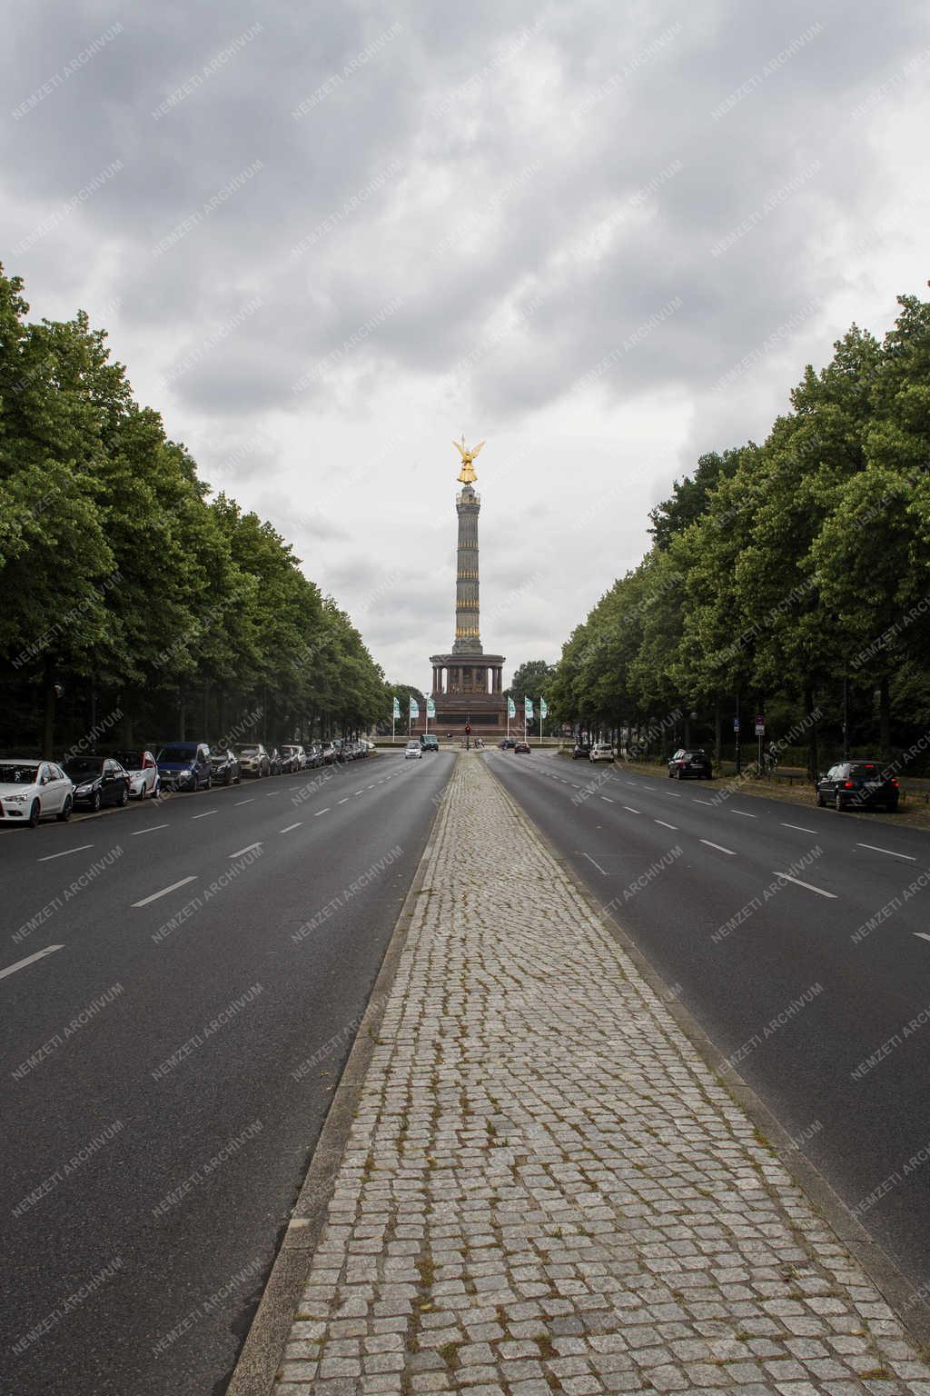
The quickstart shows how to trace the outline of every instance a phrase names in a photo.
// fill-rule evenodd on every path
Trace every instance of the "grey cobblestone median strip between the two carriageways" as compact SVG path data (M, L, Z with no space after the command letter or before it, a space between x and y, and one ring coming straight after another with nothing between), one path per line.
M275 1396L930 1396L880 1291L460 757Z

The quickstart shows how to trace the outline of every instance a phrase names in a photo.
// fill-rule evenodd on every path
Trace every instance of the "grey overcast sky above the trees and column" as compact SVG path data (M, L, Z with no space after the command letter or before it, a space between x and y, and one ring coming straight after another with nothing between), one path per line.
M929 274L924 0L10 7L0 257L389 678L555 659L697 455Z

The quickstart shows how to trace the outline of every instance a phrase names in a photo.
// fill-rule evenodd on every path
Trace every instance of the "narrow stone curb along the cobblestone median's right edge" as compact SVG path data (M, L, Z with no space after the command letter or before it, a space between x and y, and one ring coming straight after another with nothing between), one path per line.
M559 871L566 877L577 895L581 898L591 914L605 927L612 938L629 955L639 974L643 976L653 993L662 1001L669 1016L675 1019L678 1027L694 1050L703 1057L704 1064L714 1072L717 1082L726 1090L736 1104L749 1115L763 1135L764 1143L786 1168L800 1191L805 1194L813 1209L834 1231L837 1240L845 1245L857 1265L864 1270L876 1289L883 1294L888 1307L909 1333L912 1342L923 1354L930 1350L930 1304L922 1298L915 1286L892 1261L887 1251L869 1234L862 1222L856 1220L851 1209L838 1192L823 1175L820 1168L795 1146L789 1132L778 1117L768 1108L761 1097L749 1086L738 1072L726 1068L724 1054L714 1046L694 1015L675 998L661 974L643 955L637 945L623 930L620 923L609 913L605 913L595 896L588 892L569 863L555 850L545 833L537 828L524 810L516 803L510 792L494 771L491 762L485 766L494 776L505 800L513 810L514 818L533 833ZM791 1223L792 1230L796 1230Z

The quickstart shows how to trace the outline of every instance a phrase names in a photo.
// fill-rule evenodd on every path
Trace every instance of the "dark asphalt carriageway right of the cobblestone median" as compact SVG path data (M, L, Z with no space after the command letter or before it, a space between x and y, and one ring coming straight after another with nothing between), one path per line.
M485 757L915 1286L930 1280L930 839L533 752Z

